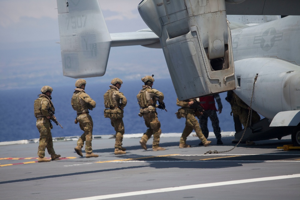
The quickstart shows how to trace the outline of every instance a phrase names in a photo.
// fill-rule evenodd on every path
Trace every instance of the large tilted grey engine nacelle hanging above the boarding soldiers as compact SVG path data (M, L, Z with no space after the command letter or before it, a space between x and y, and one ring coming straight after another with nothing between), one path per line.
M235 89L224 0L144 0L138 9L160 38L179 100Z

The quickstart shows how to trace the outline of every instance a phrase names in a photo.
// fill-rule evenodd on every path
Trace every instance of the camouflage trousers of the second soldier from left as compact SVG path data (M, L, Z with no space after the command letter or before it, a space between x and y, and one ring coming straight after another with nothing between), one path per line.
M77 116L79 127L84 133L77 141L77 145L81 148L85 142L85 153L92 153L92 139L93 139L93 120L89 114L81 114Z

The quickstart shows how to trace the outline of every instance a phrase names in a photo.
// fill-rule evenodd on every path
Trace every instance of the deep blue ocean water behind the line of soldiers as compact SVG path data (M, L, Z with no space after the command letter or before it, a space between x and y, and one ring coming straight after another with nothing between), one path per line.
M51 84L49 85L51 86ZM109 89L109 85L110 83L94 85L87 83L85 88L86 93L96 101L96 108L90 111L94 122L93 135L115 134L110 119L104 118L103 94ZM124 81L120 89L128 100L123 118L125 134L144 133L147 129L143 118L138 116L140 108L137 104L136 95L142 89L142 85L141 80ZM38 94L41 94L41 87L0 91L0 142L39 138L33 105L35 99L38 98ZM76 111L73 110L70 104L74 88L74 85L53 87L52 102L55 107L55 117L63 129L52 122L52 137L80 136L83 133L79 128L79 124L74 124ZM164 93L164 102L168 110L166 112L157 109L162 133L182 133L185 120L176 118L175 112L179 107L176 106L177 96L171 79L156 79L153 88ZM230 105L225 100L226 92L221 93L220 97L223 104L222 113L218 115L221 131L234 131L233 119L230 116ZM209 120L208 130L213 131Z

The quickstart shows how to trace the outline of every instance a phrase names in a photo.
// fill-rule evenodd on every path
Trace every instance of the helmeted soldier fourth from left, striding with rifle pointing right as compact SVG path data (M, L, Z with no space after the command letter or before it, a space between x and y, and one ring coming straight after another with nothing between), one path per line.
M161 123L158 121L156 107L164 109L164 94L154 88L153 82L154 78L152 76L145 76L142 78L145 83L143 89L137 95L137 100L140 105L139 116L144 118L146 127L148 127L146 133L142 136L140 140L141 147L147 150L147 141L153 135L152 150L153 151L163 151L165 148L159 146L159 140L161 135ZM159 102L159 106L156 102Z

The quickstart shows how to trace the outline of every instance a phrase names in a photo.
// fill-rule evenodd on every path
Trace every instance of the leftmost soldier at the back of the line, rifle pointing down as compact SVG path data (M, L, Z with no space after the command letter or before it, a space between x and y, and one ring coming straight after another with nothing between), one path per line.
M42 94L39 95L38 99L35 100L34 109L35 117L37 118L36 126L40 132L40 142L38 146L38 162L49 162L50 159L45 158L45 149L47 148L48 154L51 155L51 160L55 160L60 155L55 154L53 149L51 129L52 124L50 123L50 115L48 109L55 111L53 103L51 101L53 89L46 85L42 87Z

